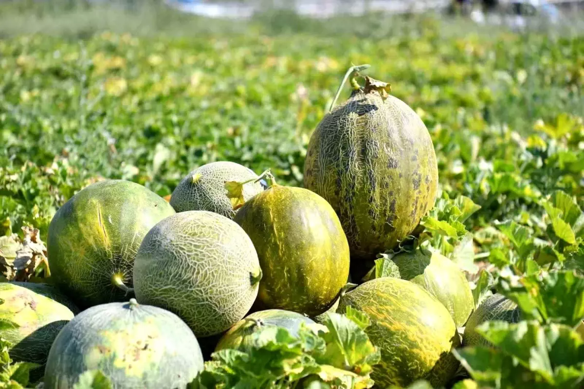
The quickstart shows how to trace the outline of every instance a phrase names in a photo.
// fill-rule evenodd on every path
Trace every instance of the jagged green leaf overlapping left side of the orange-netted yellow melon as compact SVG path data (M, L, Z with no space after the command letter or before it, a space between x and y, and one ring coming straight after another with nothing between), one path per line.
M345 370L358 367L361 373L366 374L371 371L371 366L379 362L379 349L351 319L329 312L323 324L328 328L328 332L321 334L326 342L326 350L317 357L318 363Z

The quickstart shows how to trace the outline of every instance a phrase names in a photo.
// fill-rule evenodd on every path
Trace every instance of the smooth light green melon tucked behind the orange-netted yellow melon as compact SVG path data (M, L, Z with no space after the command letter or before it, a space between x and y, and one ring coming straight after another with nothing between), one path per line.
M426 289L450 312L457 327L467 322L474 310L471 286L456 263L440 253L416 250L391 258L399 268L401 279Z

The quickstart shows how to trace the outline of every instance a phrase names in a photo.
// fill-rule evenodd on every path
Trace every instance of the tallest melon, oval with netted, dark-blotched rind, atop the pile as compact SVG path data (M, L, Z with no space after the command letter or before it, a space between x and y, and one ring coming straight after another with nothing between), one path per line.
M433 207L437 184L432 138L394 96L353 93L308 144L304 187L335 209L352 259L375 259L411 234Z

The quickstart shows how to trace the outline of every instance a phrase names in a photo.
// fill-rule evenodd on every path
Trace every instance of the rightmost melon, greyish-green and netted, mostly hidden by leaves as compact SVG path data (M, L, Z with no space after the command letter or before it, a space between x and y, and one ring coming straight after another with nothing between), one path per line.
M521 311L517 304L506 298L502 294L496 293L485 298L479 304L477 310L472 312L468 318L467 325L464 328L463 345L464 346L488 346L489 341L483 338L475 328L479 324L490 320L502 320L510 323L516 323L521 319Z

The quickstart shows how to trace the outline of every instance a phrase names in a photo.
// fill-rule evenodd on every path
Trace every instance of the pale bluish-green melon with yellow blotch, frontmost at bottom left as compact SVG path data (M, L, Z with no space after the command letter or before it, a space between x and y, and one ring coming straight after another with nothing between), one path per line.
M186 388L203 357L179 317L132 298L91 307L65 325L48 355L44 389L71 388L88 370L101 370L118 389Z

